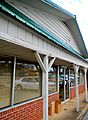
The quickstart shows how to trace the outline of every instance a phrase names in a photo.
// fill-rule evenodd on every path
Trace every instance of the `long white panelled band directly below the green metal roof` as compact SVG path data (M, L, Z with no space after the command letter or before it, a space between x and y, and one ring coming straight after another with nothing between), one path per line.
M27 30L27 28L23 25L16 24L10 21L9 18L7 19L7 17L4 18L2 15L0 15L0 27L1 25L3 25L3 21L5 21L4 27L8 26L8 30L6 31L5 28L3 30L0 29L0 39L3 39L4 41L9 41L11 43L23 46L34 51L38 51L42 54L55 56L56 58L88 67L88 64L83 60L80 60L79 58L75 57L59 46L57 47L55 44L49 42L38 34ZM12 26L14 27L14 29L12 29ZM15 31L17 33L15 33L14 36ZM8 49L9 51L13 51L12 47L9 47ZM5 51L5 49L3 49L3 51Z

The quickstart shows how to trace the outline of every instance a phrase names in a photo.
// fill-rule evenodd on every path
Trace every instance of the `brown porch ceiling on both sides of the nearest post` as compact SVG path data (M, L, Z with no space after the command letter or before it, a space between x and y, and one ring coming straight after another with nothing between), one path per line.
M0 40L0 57L2 57L3 55L5 56L7 55L11 57L16 56L17 58L37 63L34 52L35 51L31 49L28 49L10 42L6 42L4 40ZM43 55L41 55L41 57L43 57ZM71 63L58 58L56 58L54 65L61 65L61 66L67 66L67 67L72 66Z

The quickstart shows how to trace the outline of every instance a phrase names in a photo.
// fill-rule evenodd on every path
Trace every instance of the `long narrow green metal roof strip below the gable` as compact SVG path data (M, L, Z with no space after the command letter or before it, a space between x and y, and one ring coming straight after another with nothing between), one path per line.
M36 22L34 22L33 20L31 20L30 18L28 18L27 16L25 16L24 14L22 14L20 11L18 11L17 9L15 9L14 7L12 7L11 5L9 5L8 3L2 1L0 3L0 8L2 8L2 10L6 11L7 13L9 13L10 15L14 16L16 19L18 19L20 22L26 24L27 26L31 27L32 29L36 30L37 32L39 32L40 34L46 36L49 40L51 40L52 42L56 43L57 45L63 47L64 49L66 49L67 51L73 53L74 55L76 55L77 57L81 58L82 60L85 60L79 53L77 53L70 45L68 45L67 43L65 43L63 40L58 39L55 35L53 35L52 33L50 33L48 30L46 30L45 28L43 28L42 26L40 26L39 24L37 24Z

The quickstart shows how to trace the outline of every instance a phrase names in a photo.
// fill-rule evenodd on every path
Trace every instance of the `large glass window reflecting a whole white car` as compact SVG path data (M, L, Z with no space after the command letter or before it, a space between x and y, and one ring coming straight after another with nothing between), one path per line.
M14 103L41 96L39 65L17 62Z

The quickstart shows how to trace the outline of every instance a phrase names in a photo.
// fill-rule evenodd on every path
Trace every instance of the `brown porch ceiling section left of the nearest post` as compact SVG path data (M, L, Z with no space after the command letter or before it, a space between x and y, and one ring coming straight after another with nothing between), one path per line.
M24 60L37 62L32 50L3 40L0 40L0 54L0 56L16 56Z

